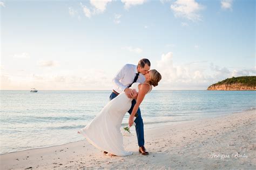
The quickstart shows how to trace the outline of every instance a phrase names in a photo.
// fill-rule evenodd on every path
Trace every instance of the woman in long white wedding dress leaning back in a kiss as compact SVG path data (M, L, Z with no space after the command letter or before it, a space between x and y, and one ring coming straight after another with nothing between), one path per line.
M138 97L129 118L129 126L133 125L134 115L145 95L152 90L152 86L158 85L161 74L157 70L150 70L145 74L145 78L144 83L136 82L130 87L130 89L135 89L138 92ZM125 113L131 108L132 100L126 96L125 92L120 93L116 98L109 101L88 125L77 133L83 134L87 141L98 149L108 152L107 155L131 155L132 152L127 152L124 149L120 127Z

